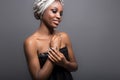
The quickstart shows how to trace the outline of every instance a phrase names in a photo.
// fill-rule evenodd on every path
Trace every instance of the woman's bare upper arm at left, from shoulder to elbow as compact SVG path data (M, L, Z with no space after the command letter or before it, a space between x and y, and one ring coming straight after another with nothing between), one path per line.
M37 57L37 48L34 40L26 39L24 42L24 51L27 59L29 71L33 77L37 76L40 70L39 59Z

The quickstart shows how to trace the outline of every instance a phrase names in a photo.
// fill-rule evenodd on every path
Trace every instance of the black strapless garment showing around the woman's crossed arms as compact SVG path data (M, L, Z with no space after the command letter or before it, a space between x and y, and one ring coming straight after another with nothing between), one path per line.
M67 47L61 48L60 52L64 54L67 60L69 60ZM38 57L40 65L41 67L43 67L44 63L48 58L48 53L38 54ZM65 68L55 65L52 74L50 75L48 80L73 80L73 78L71 73L67 71Z

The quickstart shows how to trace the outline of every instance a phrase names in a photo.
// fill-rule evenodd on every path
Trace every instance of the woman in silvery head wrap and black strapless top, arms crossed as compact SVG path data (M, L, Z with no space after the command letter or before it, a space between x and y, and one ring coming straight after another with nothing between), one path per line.
M41 23L24 42L33 80L73 80L70 72L78 66L70 39L65 32L55 30L62 19L62 0L36 0L33 9Z

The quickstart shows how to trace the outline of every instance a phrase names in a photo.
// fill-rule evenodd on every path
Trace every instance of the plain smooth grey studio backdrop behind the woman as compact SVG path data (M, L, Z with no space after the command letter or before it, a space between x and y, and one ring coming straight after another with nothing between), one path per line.
M0 80L31 80L24 39L39 26L33 0L0 1ZM59 30L69 34L75 80L120 80L120 0L64 0Z

